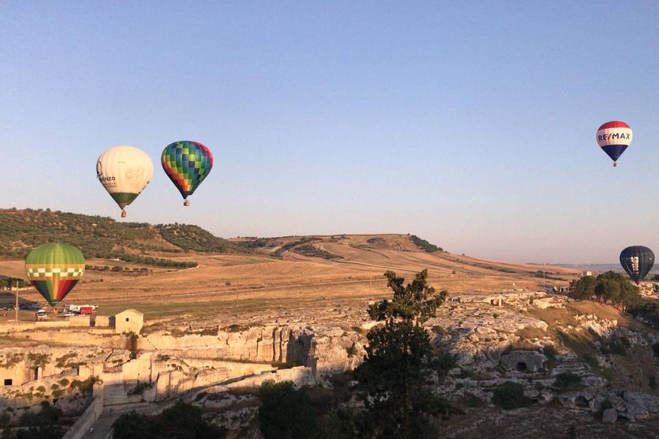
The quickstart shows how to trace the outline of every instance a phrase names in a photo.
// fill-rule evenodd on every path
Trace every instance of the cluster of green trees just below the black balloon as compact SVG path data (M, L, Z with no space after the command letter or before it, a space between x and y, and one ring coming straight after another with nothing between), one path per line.
M623 309L641 302L638 287L630 283L626 276L615 272L605 272L597 277L583 276L570 282L568 296L575 300L596 298L599 302Z

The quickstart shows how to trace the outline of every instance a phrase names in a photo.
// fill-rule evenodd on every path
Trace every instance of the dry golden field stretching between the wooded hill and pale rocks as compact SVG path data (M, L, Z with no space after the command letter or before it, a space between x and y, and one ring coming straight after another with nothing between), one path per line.
M153 254L177 260L197 261L198 268L171 270L151 268L151 274L87 270L82 282L65 302L100 305L100 314L134 307L147 318L177 313L209 313L266 307L318 306L323 302L366 302L389 295L382 274L394 270L410 278L428 269L430 285L446 288L452 295L489 294L511 289L537 291L543 285L566 285L575 270L543 265L485 261L448 252L428 253L408 235L335 235L314 237L311 245L336 255L336 259L309 257L281 246L302 237L273 239L253 254L199 254L183 257ZM239 239L235 239L239 240ZM91 260L89 265L139 265ZM536 272L551 272L551 280ZM23 276L23 261L0 261L0 273ZM12 296L5 292L4 302ZM21 298L44 303L33 289L23 289Z

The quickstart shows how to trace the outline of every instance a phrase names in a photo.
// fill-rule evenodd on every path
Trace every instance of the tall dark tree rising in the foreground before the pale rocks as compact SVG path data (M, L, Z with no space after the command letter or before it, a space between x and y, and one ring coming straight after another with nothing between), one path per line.
M369 307L384 327L371 331L364 361L355 370L358 396L365 410L356 419L358 438L435 438L430 420L450 414L448 403L428 390L428 377L442 379L454 365L450 355L435 355L421 326L435 316L448 292L435 294L428 271L404 285L394 272L384 274L393 300Z

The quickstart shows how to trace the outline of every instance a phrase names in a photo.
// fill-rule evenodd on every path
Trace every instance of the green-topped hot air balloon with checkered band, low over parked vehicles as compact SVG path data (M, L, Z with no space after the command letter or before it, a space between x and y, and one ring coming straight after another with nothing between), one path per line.
M51 307L69 294L83 273L80 250L61 242L38 246L25 259L27 279Z

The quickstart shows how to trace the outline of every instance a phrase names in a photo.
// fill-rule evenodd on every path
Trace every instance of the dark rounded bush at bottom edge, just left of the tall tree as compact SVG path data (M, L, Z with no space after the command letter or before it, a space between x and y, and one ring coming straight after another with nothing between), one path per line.
M316 410L305 388L292 381L265 381L259 389L259 424L266 439L314 438L318 432Z

